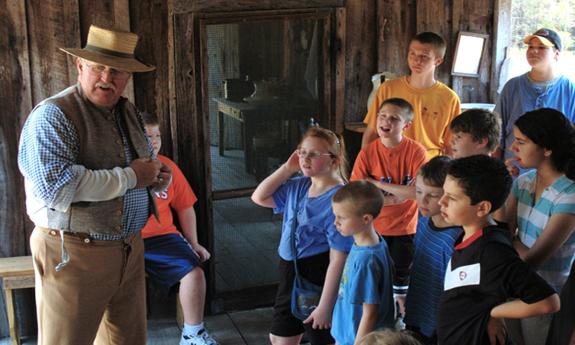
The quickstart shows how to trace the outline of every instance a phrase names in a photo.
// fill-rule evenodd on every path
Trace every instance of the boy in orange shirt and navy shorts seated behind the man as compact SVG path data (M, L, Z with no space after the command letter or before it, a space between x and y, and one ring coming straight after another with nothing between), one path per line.
M167 290L180 283L184 327L179 344L217 345L203 323L206 279L201 264L210 258L210 252L198 243L194 211L197 198L176 163L158 154L162 146L158 118L149 113L143 113L142 117L154 154L172 169L170 185L156 193L159 222L150 216L142 229L146 273ZM178 217L181 232L174 225L172 210Z

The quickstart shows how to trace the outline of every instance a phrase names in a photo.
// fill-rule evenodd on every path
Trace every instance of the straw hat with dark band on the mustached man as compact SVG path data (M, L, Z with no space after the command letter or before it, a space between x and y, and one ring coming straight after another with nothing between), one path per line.
M127 31L112 31L90 26L88 41L83 49L60 48L60 50L126 72L148 72L156 69L134 57L138 35Z

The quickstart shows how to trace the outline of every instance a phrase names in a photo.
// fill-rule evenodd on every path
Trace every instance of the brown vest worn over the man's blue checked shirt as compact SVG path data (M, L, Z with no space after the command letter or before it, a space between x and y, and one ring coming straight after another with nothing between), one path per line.
M76 164L87 169L126 167L121 134L116 114L132 146L135 158L149 157L150 150L136 107L126 98L120 98L114 111L100 108L82 94L80 85L71 86L42 103L56 105L74 124L78 133L78 160ZM153 203L151 193L149 202ZM152 205L154 207L155 205ZM48 223L53 229L73 232L121 234L123 197L108 201L73 203L67 212L48 211Z

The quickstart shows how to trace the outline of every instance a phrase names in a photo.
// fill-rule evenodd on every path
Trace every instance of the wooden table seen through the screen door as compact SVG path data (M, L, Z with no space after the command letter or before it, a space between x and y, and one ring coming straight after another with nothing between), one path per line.
M253 173L253 138L256 135L258 124L268 121L288 121L290 128L297 128L298 121L309 121L311 117L317 118L317 101L274 99L271 101L235 102L225 98L213 98L218 110L218 153L224 155L225 126L224 116L239 121L242 124L242 141L246 172ZM286 145L295 149L293 140L287 139Z

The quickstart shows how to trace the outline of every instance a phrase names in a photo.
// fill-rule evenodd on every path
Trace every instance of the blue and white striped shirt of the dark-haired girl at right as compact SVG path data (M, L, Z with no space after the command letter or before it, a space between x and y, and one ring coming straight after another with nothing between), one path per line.
M519 176L511 192L517 199L519 239L528 248L541 236L549 219L556 214L575 214L575 182L565 175L547 187L535 202L536 170ZM575 232L539 268L541 275L556 291L561 291L575 258Z

